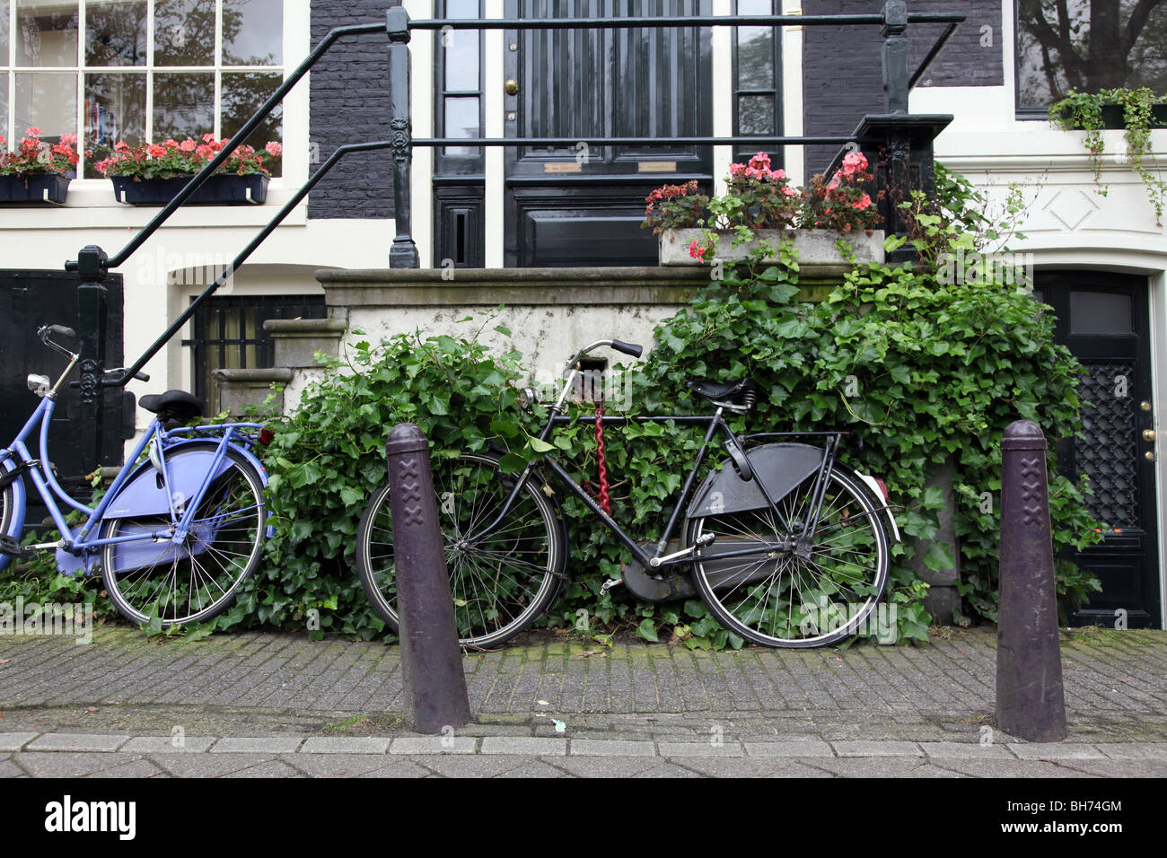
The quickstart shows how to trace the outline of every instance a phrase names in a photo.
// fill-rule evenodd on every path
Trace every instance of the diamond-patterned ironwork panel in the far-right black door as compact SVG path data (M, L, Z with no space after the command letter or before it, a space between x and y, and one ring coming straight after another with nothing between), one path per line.
M1084 361L1083 439L1075 447L1078 474L1090 477L1086 509L1110 528L1138 528L1138 439L1133 362Z

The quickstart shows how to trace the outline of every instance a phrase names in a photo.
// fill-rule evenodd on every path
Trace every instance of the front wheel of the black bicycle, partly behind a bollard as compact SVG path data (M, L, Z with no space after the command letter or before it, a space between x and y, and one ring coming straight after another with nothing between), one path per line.
M467 542L495 523L518 476L503 473L498 458L484 453L463 453L433 465L454 620L463 647L488 648L510 640L559 594L567 538L543 480L533 473L506 516L474 544ZM361 518L357 567L373 609L397 632L389 486L377 490Z

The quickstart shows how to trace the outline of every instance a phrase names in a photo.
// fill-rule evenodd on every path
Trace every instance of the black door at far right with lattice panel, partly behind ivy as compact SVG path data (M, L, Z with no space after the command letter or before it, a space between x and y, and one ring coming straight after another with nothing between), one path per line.
M1160 605L1148 287L1110 272L1044 272L1037 298L1057 315L1057 339L1082 363L1083 438L1058 445L1060 467L1085 474L1090 512L1104 539L1072 559L1102 592L1071 615L1074 625L1158 628ZM1092 406L1092 407L1091 407Z

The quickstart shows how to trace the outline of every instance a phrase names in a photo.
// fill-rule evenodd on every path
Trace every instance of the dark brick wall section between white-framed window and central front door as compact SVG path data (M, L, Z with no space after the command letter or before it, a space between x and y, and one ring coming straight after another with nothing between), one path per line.
M399 0L312 0L312 43L334 27L384 22ZM309 140L323 163L337 146L389 139L389 71L384 34L335 42L310 72ZM315 169L315 165L312 169ZM392 217L389 152L348 155L313 189L309 217Z

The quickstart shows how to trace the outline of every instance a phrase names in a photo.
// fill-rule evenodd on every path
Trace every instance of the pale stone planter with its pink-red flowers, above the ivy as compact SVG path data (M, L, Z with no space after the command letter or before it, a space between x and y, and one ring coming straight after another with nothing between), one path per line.
M880 215L862 190L872 177L867 159L853 152L831 181L815 176L810 188L798 189L759 152L748 163L729 166L724 196L698 194L696 181L652 191L642 226L661 236L662 265L778 261L788 245L799 264L841 271L883 260L883 233L874 229Z

